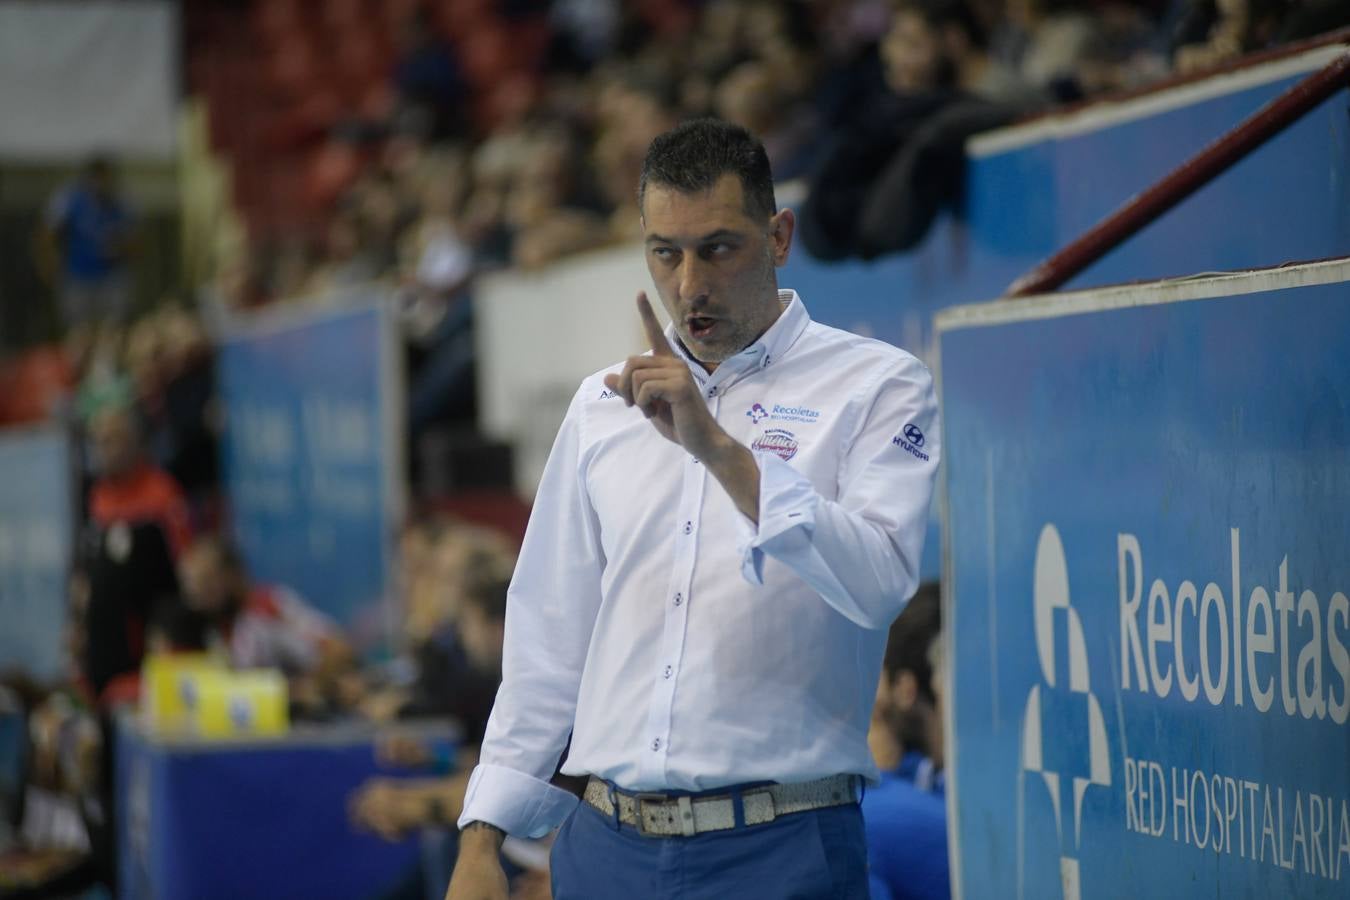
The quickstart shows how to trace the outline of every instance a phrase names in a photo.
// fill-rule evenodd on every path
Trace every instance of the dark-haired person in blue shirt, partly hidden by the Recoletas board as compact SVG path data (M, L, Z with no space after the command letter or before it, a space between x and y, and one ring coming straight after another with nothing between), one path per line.
M936 583L891 626L871 745L882 784L863 797L872 900L949 897Z

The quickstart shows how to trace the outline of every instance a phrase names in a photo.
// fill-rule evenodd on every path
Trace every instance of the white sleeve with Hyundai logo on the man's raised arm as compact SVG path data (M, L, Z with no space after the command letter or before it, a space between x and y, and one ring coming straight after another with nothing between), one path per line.
M859 425L834 499L774 453L755 453L759 522L741 521L741 573L763 584L776 560L852 622L884 629L918 587L940 459L937 397L927 368L907 356L855 401Z

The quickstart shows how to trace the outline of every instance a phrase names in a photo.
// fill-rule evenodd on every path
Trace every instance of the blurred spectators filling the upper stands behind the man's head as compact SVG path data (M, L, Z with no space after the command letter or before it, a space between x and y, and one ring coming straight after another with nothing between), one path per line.
M340 161L313 177L324 215L308 235L256 235L242 248L219 279L228 304L382 278L435 305L477 271L632 240L648 142L705 115L760 135L776 177L819 196L807 201L809 251L905 250L938 208L959 204L971 134L1350 23L1334 0L400 8L383 103L352 101L313 138L323 159ZM493 77L474 78L485 66Z

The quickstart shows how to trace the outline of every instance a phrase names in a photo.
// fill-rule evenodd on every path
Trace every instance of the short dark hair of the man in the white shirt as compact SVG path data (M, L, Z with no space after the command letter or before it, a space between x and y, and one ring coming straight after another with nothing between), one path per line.
M726 174L741 179L745 212L768 219L774 202L774 173L764 144L740 125L720 119L691 119L657 135L643 159L637 206L643 209L648 185L680 193L707 190Z

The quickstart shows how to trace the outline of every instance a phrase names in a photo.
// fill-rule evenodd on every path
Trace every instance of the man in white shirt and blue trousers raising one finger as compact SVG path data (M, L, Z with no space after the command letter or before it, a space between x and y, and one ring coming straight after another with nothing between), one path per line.
M559 429L448 897L505 897L504 834L559 824L558 900L865 897L857 797L918 586L933 382L778 289L794 216L744 130L653 140L639 201L672 324L640 294L652 352L582 382ZM580 804L549 784L568 735Z

